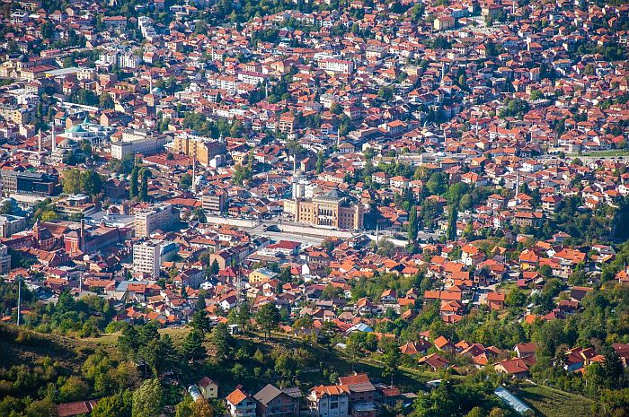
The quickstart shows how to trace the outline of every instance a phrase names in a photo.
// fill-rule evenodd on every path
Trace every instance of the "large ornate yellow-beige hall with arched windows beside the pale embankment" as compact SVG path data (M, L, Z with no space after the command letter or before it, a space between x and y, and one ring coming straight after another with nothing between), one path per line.
M285 200L284 213L291 214L296 222L313 226L362 230L365 210L349 196L332 190L311 200Z

